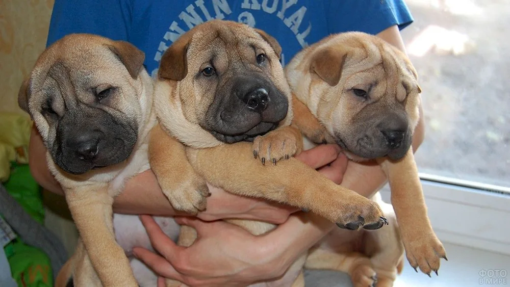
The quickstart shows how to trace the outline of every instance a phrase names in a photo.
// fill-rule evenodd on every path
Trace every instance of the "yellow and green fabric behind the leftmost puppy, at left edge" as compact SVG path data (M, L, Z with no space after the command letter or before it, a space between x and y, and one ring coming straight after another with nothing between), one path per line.
M41 187L30 173L28 145L32 121L27 116L0 113L0 181L34 220L44 224ZM19 237L4 248L12 277L19 287L52 287L53 271L45 252Z

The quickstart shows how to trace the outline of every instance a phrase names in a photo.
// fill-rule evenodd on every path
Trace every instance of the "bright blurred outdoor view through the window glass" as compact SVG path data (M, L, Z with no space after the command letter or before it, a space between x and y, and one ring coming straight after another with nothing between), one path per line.
M510 1L406 3L426 122L420 172L510 187Z

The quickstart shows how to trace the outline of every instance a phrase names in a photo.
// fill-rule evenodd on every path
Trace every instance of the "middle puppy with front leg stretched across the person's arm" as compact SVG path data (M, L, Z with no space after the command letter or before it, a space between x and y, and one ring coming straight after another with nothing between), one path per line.
M175 208L197 213L206 205L207 180L236 194L310 210L343 228L382 227L386 219L378 204L290 158L302 141L289 126L291 93L280 53L266 33L221 20L195 26L165 51L155 84L159 125L149 144L163 192ZM253 234L274 228L230 222ZM183 227L179 244L188 246L195 238L194 230ZM303 285L304 258L273 284L290 285L300 274L294 284Z

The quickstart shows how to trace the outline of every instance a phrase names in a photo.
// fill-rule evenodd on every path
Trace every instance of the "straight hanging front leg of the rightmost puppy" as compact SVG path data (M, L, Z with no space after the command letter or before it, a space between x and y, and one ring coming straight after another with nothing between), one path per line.
M380 161L380 160L379 160ZM398 162L380 161L388 176L391 202L400 228L407 260L430 276L437 272L446 251L432 230L412 149Z

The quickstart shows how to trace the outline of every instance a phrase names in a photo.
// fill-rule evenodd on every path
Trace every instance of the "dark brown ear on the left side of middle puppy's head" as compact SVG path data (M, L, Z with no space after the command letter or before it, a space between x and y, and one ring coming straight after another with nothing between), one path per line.
M188 74L186 54L191 42L191 33L181 35L161 56L158 76L163 79L181 81Z

